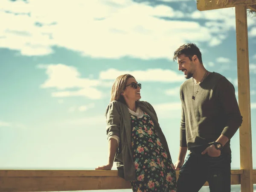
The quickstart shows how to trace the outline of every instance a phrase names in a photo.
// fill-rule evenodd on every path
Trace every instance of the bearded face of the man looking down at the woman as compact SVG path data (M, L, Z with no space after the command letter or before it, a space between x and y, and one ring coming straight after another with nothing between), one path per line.
M178 70L182 71L186 79L189 79L194 74L195 64L190 61L184 54L178 56Z

